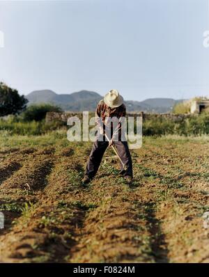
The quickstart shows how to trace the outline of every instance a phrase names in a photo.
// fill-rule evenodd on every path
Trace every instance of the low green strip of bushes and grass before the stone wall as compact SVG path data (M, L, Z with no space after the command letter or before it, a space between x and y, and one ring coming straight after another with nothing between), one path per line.
M0 130L7 131L8 134L20 135L40 135L46 134L56 129L68 129L65 122L22 121L20 116L9 116L0 119ZM136 131L136 127L135 127ZM189 118L149 118L143 122L142 132L144 136L163 136L167 134L177 134L180 136L201 136L209 134L209 114L201 113L199 116Z

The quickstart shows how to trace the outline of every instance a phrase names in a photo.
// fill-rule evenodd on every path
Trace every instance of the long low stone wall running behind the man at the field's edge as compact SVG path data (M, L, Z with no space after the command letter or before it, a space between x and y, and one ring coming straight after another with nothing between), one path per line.
M46 115L46 122L53 122L53 121L62 121L62 122L67 122L68 118L72 117L72 116L77 116L79 119L82 119L83 117L83 113L82 112L60 112L60 113L56 113L53 111L50 111L47 113ZM91 116L94 116L93 112L89 112L89 118L91 118ZM191 115L191 114L174 114L174 113L143 113L143 112L139 112L139 113L127 113L127 116L142 116L143 120L150 120L150 119L157 119L157 118L167 118L173 121L180 121L183 120L185 118L190 118L193 117L195 115Z

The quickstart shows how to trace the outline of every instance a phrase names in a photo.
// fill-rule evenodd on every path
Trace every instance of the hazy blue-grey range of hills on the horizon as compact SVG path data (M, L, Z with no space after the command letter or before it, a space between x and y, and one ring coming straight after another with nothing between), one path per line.
M94 91L81 90L71 94L56 94L52 90L35 90L26 95L29 104L51 103L61 106L64 111L94 111L102 96ZM150 98L144 101L125 101L127 111L144 111L147 113L167 113L173 106L183 100L171 98Z

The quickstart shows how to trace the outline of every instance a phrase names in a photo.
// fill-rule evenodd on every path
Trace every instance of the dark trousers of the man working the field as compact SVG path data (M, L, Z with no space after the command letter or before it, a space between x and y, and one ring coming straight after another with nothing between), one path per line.
M88 177L93 178L95 174L98 172L98 168L102 161L102 157L104 155L105 150L107 149L109 143L108 141L98 141L96 140L93 143L93 148L91 150L91 154L89 155L88 162L86 165L86 175ZM125 176L131 176L132 173L132 157L130 155L130 151L127 146L127 141L114 141L114 146L118 150L118 154L123 161L123 164L126 166ZM123 170L123 166L121 164L121 170Z

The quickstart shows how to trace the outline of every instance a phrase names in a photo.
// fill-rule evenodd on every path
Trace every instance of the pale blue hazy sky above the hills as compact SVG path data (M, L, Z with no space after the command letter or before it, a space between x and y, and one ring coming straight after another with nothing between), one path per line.
M209 95L208 0L0 1L0 80L20 94Z

